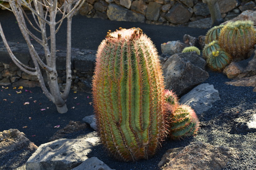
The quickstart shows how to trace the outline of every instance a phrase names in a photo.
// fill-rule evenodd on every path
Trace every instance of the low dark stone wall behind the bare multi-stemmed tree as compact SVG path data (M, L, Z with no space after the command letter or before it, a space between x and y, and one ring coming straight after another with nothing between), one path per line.
M27 48L27 44L17 46L17 43L8 42L14 55L24 64L33 67L31 57ZM43 61L43 49L41 46L34 44L39 56ZM96 62L96 50L84 50L72 48L71 69L72 69L72 85L71 89L76 91L85 91L90 93L93 69ZM65 89L66 83L66 51L57 50L57 73L58 83L61 90ZM42 75L47 86L47 74L41 69ZM26 74L12 62L4 44L0 43L0 85L10 85L13 87L35 87L40 86L36 76Z

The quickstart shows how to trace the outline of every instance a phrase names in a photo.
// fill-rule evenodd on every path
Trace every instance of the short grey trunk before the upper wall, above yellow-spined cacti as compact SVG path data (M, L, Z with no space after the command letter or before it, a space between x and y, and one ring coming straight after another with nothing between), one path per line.
M216 25L219 25L220 21L222 21L221 13L219 10L218 0L203 0L203 3L207 3L211 19L212 19L212 25L215 23Z

